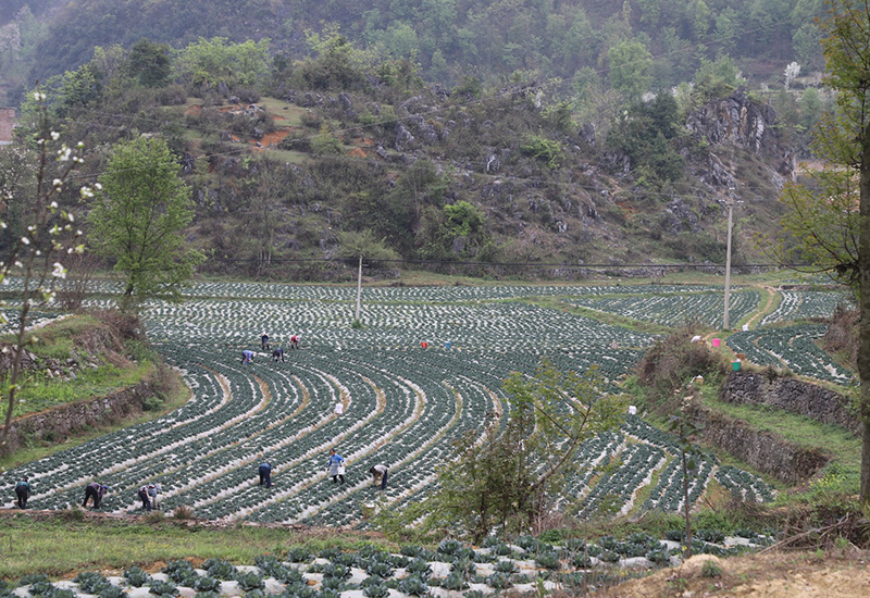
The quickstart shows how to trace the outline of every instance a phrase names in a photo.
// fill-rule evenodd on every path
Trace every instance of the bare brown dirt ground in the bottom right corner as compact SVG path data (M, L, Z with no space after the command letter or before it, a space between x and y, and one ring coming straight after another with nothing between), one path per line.
M719 577L701 574L705 560L722 570ZM763 597L858 598L870 597L870 552L841 555L772 552L716 559L693 557L680 569L666 569L649 577L632 580L600 595L602 598Z

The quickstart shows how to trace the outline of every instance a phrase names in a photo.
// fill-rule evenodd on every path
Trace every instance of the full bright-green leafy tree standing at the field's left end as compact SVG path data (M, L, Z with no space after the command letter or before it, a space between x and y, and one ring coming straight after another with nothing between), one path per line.
M89 242L124 277L124 304L146 298L179 301L204 257L188 248L190 189L165 141L139 137L114 148L101 192L90 202Z

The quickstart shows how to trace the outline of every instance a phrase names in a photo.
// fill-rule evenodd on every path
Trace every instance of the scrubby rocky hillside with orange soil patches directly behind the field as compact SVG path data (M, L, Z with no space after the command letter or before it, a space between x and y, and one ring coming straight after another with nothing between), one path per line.
M331 260L352 259L370 235L443 272L576 277L598 264L652 276L657 263L722 264L732 198L743 201L741 264L762 260L751 238L775 227L795 167L776 111L729 68L596 124L546 84L447 89L407 61L366 63L340 36L294 64L219 39L148 62L166 52L145 41L99 54L47 87L48 102L65 138L85 144L84 180L104 170L111 144L169 141L191 187L188 240L207 252L203 272L345 279L352 270ZM72 191L67 204L86 215Z

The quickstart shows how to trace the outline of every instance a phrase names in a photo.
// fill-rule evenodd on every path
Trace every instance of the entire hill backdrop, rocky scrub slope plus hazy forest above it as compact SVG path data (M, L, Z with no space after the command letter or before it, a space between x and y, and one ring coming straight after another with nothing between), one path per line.
M763 260L749 241L776 225L830 101L816 0L15 5L8 97L40 74L58 128L89 148L85 180L113 144L166 139L214 272L340 276L315 260L361 246L721 264L734 199L735 263Z

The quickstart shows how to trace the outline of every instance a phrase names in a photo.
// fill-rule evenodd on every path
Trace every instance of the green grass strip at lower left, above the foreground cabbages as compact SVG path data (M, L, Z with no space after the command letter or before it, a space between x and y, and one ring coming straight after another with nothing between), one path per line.
M172 560L225 559L253 564L260 555L284 556L293 545L318 550L327 538L337 547L359 547L359 533L291 531L254 526L207 527L184 523L82 520L70 511L48 519L10 514L0 519L0 578L32 573L72 577L83 570L159 570Z

